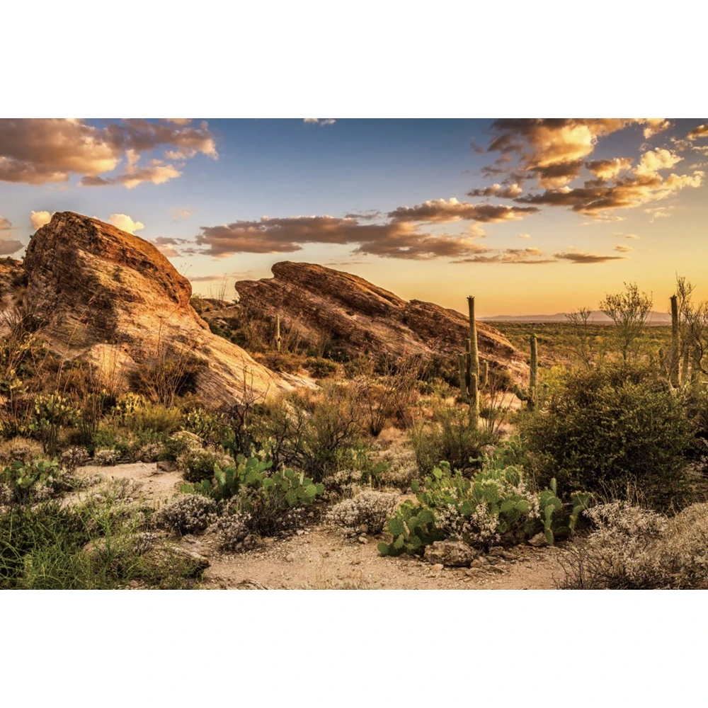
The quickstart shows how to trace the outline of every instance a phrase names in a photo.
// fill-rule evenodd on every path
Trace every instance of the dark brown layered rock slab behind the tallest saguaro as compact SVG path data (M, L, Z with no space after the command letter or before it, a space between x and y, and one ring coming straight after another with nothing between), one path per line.
M343 347L388 356L464 352L467 316L432 302L401 299L357 275L312 263L275 263L273 278L236 282L241 306L259 309L316 341L321 333ZM463 306L467 303L462 300ZM523 356L493 327L477 322L481 358L512 372Z

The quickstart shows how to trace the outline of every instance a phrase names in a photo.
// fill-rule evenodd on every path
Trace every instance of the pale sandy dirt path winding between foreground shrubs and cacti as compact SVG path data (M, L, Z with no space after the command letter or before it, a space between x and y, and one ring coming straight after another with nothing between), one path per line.
M178 472L161 472L156 464L84 467L81 476L103 481L131 481L135 496L156 506L169 500L182 483ZM506 556L485 556L474 568L443 569L409 556L379 555L382 537L362 543L335 527L311 525L285 539L265 539L261 547L241 554L222 554L211 535L185 536L181 544L205 556L205 589L287 590L473 590L552 589L563 577L561 549L518 546Z

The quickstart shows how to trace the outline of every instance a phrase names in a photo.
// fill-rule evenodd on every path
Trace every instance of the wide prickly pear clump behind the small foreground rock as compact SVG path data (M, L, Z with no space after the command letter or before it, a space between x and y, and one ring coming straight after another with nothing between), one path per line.
M547 542L570 535L590 496L578 493L572 506L564 506L551 489L534 493L523 469L503 467L487 460L485 469L468 479L443 462L413 482L417 503L406 501L389 519L390 544L379 544L384 555L422 554L427 544L453 539L489 547L500 542L519 542L544 532Z

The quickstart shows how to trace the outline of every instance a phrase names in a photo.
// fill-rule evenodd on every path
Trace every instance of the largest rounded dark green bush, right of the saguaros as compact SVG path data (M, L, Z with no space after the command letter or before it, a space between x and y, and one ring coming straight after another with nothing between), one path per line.
M692 426L680 397L651 368L607 365L569 372L544 410L520 417L539 484L596 490L632 481L658 498L683 481Z

